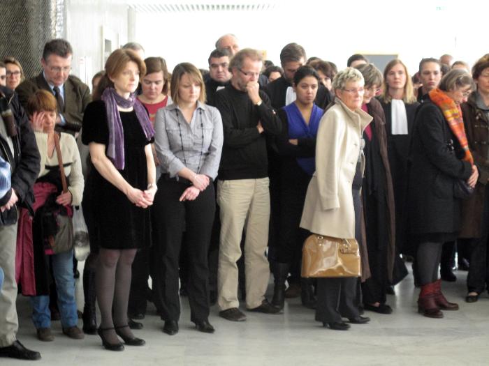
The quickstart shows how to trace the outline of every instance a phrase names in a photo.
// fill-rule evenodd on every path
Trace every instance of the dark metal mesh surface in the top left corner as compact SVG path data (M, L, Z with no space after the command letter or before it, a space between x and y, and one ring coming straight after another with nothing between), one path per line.
M41 70L44 44L63 37L65 0L1 0L0 57L19 60L26 78Z

